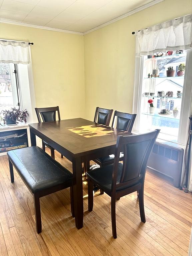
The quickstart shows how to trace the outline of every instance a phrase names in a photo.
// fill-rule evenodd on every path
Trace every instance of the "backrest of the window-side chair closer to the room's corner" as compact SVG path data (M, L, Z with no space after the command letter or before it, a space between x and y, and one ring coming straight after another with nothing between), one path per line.
M109 126L112 113L113 113L113 109L96 107L94 122Z

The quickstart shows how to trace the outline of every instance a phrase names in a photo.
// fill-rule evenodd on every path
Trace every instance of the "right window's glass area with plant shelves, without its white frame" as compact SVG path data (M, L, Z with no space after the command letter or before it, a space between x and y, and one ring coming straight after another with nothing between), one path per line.
M184 73L178 76L178 66L186 63L186 52L178 55L157 58L143 57L143 81L141 98L140 131L161 129L159 137L166 139L171 135L177 141L184 84ZM167 77L167 68L173 67L173 76ZM158 69L159 77L149 77L152 69ZM150 110L148 100L153 100ZM169 113L162 113L166 109ZM177 111L174 111L176 109Z

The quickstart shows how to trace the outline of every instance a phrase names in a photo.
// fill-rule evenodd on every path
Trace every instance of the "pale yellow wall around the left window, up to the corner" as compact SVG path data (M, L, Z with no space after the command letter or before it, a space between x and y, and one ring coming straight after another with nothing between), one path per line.
M0 38L31 46L36 107L59 106L61 119L84 117L83 36L0 24Z

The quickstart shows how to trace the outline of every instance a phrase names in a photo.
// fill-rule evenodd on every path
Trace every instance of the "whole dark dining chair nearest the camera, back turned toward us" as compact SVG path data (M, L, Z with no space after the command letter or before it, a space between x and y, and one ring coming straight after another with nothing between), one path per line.
M137 191L141 221L145 223L143 201L144 180L147 161L160 130L140 135L123 136L117 138L114 164L92 170L87 173L88 178L88 209L93 210L93 185L98 186L111 197L111 222L113 237L116 232L116 199ZM123 149L123 163L119 162Z

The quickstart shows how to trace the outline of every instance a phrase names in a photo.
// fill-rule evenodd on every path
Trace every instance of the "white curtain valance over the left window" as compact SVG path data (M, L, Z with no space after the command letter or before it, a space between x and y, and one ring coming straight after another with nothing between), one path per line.
M29 64L29 43L0 40L0 62Z

